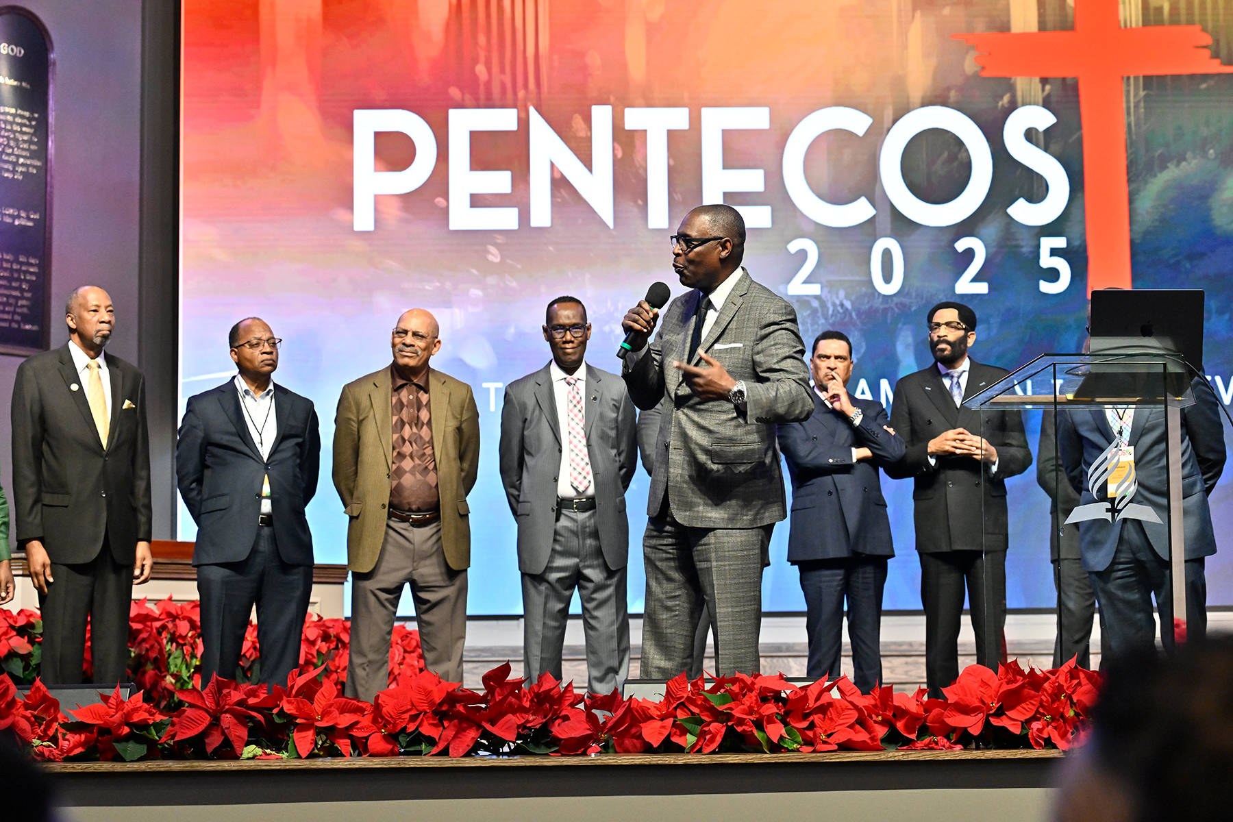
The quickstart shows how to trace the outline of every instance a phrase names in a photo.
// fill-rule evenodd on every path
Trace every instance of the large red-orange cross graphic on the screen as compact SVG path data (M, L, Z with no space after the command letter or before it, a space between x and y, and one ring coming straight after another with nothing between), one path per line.
M1075 0L1074 31L952 35L977 49L986 78L1079 78L1088 227L1088 293L1131 287L1122 78L1227 74L1201 26L1122 28L1117 0Z

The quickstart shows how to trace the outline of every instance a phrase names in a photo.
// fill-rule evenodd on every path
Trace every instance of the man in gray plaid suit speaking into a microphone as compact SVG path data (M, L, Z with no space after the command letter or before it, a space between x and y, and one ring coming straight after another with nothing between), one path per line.
M787 516L776 424L814 413L797 312L741 266L745 221L699 206L672 240L672 267L690 291L663 314L644 299L630 332L625 385L660 418L647 499L645 679L690 668L705 608L720 675L760 668L762 558ZM670 490L671 489L671 490Z

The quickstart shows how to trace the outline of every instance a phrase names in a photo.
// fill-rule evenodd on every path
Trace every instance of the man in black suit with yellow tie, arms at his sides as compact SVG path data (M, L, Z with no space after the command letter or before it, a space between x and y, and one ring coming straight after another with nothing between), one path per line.
M127 679L133 584L153 564L145 377L102 354L116 324L106 291L75 290L64 314L69 341L14 383L15 531L43 615L43 682L81 682L89 617L94 682L113 685Z

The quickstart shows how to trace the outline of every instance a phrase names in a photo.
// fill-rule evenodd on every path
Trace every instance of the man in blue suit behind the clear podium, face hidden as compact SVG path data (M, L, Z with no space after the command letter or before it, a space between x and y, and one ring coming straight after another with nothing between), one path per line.
M1216 396L1202 377L1191 382L1195 402L1181 409L1181 507L1185 526L1186 638L1207 632L1205 558L1216 553L1216 534L1207 498L1224 471L1224 429ZM1118 446L1115 449L1113 446ZM1079 524L1083 567L1091 574L1101 627L1110 654L1155 647L1155 595L1160 640L1173 649L1173 588L1169 579L1169 460L1165 410L1106 408L1058 415L1058 454L1079 505L1070 520ZM1132 477L1110 505L1108 484L1091 483L1105 471L1116 477L1116 463L1131 462ZM1095 488L1092 488L1095 484ZM1096 493L1094 493L1096 492Z

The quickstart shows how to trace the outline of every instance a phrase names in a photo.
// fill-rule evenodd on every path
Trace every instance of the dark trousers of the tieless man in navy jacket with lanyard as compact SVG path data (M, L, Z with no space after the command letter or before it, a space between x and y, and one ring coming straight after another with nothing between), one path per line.
M300 642L311 593L312 566L284 562L270 525L256 529L253 550L244 560L197 566L201 686L208 685L215 674L236 678L253 605L256 605L256 641L261 646L260 680L285 685L287 674L300 667Z

